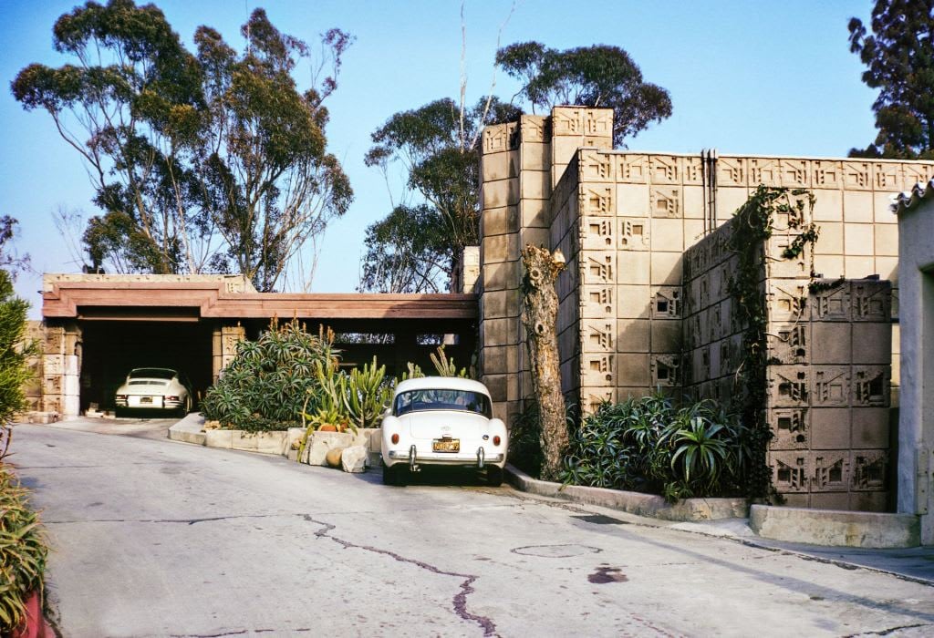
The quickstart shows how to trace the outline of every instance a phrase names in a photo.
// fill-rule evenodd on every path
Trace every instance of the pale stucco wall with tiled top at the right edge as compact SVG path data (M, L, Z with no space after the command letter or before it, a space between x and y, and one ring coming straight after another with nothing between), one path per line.
M934 180L899 197L899 512L934 545Z

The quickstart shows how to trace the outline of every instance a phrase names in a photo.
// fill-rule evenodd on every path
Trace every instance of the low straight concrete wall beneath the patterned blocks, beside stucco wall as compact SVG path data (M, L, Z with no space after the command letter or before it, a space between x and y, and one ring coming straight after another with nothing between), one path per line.
M763 538L830 547L914 548L921 544L920 523L911 514L754 505L749 527Z

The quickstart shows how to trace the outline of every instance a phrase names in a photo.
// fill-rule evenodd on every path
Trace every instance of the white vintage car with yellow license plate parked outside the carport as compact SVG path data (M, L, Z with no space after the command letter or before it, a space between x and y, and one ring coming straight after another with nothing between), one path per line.
M509 434L492 417L487 387L453 377L409 379L396 386L382 425L383 482L404 485L422 465L486 470L502 483Z

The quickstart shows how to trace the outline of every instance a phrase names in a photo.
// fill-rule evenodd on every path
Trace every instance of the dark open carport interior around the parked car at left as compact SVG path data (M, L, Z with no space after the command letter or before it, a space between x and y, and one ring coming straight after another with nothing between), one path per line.
M114 409L114 393L133 368L174 368L192 397L211 385L211 326L202 322L87 321L81 334L81 409Z

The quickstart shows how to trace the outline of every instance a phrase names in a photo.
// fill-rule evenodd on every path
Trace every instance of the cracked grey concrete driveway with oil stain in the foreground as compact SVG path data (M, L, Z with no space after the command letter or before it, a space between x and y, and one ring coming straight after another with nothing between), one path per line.
M68 636L931 635L934 588L509 488L18 425Z

